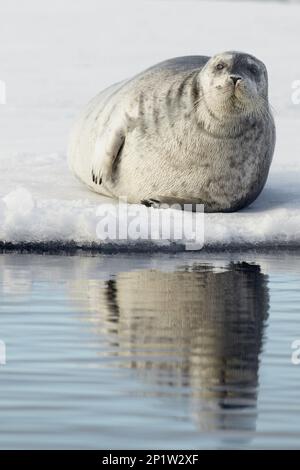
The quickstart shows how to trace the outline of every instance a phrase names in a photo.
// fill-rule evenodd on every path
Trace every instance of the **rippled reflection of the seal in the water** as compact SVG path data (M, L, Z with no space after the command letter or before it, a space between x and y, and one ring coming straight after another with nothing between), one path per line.
M123 272L73 288L96 331L109 338L106 354L155 384L151 394L159 395L157 385L164 395L166 387L189 394L201 429L250 431L267 282L259 266L242 263L221 272L205 266Z

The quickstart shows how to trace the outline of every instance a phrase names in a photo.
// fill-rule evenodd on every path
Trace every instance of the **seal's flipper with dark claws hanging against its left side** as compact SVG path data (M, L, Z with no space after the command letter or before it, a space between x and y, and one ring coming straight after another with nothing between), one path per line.
M125 144L125 133L122 125L109 126L98 137L91 169L93 183L101 185L112 178L114 163Z

